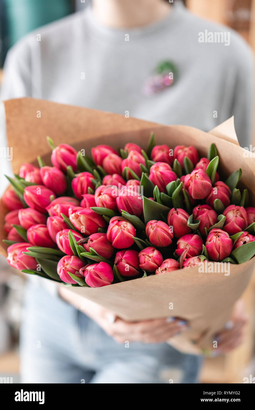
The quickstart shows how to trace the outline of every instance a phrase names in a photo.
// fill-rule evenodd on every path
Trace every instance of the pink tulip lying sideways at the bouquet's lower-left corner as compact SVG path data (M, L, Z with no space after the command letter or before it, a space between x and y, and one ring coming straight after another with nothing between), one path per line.
M8 256L7 262L13 268L21 271L22 269L32 269L36 270L37 262L34 257L24 255L23 252L28 252L29 246L27 242L21 242L19 244L13 244L7 248Z

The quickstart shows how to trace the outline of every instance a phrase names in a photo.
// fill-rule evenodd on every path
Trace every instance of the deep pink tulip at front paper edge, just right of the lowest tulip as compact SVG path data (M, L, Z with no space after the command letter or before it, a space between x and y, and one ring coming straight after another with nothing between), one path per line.
M137 276L140 273L137 251L123 249L116 253L114 264L122 276Z

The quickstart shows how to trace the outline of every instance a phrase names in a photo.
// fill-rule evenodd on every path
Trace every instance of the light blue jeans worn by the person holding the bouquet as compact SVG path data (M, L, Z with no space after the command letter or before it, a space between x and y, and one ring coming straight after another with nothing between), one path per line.
M165 343L116 343L85 314L31 284L20 338L21 383L197 383L202 363Z

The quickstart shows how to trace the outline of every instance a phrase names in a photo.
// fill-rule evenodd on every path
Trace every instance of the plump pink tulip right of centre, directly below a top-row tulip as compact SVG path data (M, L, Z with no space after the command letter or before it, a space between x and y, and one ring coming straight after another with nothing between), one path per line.
M156 162L150 167L149 179L159 187L160 192L164 192L169 182L177 180L177 175L166 162Z

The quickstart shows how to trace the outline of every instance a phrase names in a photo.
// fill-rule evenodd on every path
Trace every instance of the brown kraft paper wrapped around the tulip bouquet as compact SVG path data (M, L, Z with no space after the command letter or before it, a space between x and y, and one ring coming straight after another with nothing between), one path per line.
M212 142L219 155L219 174L226 178L242 168L241 189L247 187L250 204L255 205L255 159L243 156L238 144L233 118L214 128L210 133L196 128L163 126L135 118L92 109L22 98L5 102L7 137L13 147L13 171L17 173L23 162L36 164L39 154L49 163L50 151L46 142L49 135L55 144L67 143L76 149L90 149L98 144L115 148L135 142L146 148L150 132L154 131L157 144L174 146L194 145L200 156L206 156ZM38 113L40 115L38 116ZM7 209L0 201L0 240ZM6 255L7 246L0 241L0 252ZM199 268L181 269L169 274L152 275L101 288L69 288L112 310L119 317L136 321L157 317L181 317L190 329L170 339L169 343L186 353L201 353L211 348L213 335L229 319L233 304L242 295L251 279L255 258L234 265L230 275L199 273Z

